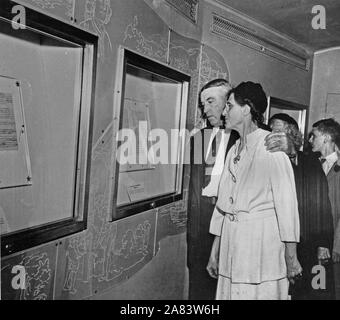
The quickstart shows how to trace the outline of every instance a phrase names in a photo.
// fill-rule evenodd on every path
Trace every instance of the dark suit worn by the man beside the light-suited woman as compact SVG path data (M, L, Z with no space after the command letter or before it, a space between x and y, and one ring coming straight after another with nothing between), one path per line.
M217 280L211 278L206 270L209 261L214 236L209 233L209 225L215 206L215 199L202 196L202 190L210 182L210 174L214 157L216 157L216 142L213 141L211 154L206 159L207 146L212 134L212 128L202 129L191 139L190 184L188 199L188 268L189 268L189 299L215 299ZM226 149L226 154L238 139L238 134L232 131Z

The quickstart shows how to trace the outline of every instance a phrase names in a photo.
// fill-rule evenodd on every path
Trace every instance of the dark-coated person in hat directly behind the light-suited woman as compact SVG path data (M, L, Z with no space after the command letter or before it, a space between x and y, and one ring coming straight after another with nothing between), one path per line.
M300 219L300 243L298 259L302 265L302 277L291 284L293 300L334 299L331 258L333 241L333 217L328 197L328 184L318 156L299 151L302 134L297 122L287 114L278 113L269 120L273 132L284 132L293 142L290 160L294 170ZM317 264L326 267L326 289L315 290L312 269Z

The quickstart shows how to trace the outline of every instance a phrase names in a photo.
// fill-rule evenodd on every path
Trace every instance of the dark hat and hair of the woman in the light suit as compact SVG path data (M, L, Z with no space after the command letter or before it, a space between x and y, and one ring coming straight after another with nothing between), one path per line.
M250 107L252 121L261 126L264 121L263 113L266 111L268 103L262 86L251 81L242 82L229 91L228 98L231 94L234 94L234 99L240 106L247 104Z

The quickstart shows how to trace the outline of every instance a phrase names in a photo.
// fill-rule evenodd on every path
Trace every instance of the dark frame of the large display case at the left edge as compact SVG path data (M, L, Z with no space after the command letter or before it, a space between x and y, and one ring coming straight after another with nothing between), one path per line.
M13 3L5 0L0 8L0 19L11 24ZM77 123L75 185L72 217L30 227L1 236L1 256L26 250L67 235L85 230L89 198L93 108L96 82L98 37L75 26L25 7L26 29L47 34L83 48L81 98ZM16 32L20 32L20 29Z

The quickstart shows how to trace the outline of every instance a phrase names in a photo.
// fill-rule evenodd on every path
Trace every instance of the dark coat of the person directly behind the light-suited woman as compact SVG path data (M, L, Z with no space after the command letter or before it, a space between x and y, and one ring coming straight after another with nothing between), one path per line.
M333 268L326 266L326 290L312 287L312 273L318 264L317 249L332 249L333 219L328 198L328 184L322 166L315 154L298 152L298 165L293 164L299 206L300 243L297 246L303 277L291 285L292 299L334 299Z

